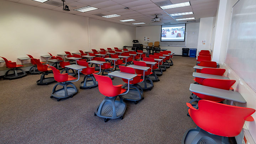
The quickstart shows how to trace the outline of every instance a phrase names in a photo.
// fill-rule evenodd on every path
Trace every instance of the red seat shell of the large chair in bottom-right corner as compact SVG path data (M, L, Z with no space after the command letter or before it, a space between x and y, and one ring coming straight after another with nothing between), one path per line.
M251 114L255 112L252 108L230 106L208 100L200 100L198 110L190 103L187 103L187 106L191 107L188 112L198 127L224 137L238 135L245 121L253 121Z

